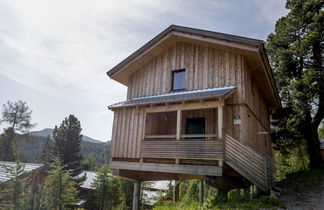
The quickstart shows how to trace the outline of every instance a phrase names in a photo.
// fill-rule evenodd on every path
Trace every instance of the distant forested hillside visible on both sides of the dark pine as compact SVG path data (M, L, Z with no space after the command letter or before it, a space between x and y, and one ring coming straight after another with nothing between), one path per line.
M21 160L24 162L39 163L40 154L47 136L51 136L53 129L44 129L31 134L18 135L17 143L21 149ZM110 141L101 142L84 136L81 141L81 154L83 158L92 154L98 163L103 164L110 157Z

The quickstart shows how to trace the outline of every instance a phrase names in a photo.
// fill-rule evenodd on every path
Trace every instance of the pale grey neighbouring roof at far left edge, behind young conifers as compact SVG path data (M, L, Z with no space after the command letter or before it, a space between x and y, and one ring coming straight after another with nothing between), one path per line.
M37 164L37 163L21 163L21 164L25 165L24 174L44 166L43 164ZM5 167L15 168L16 165L17 165L16 162L0 161L0 183L6 182L13 178L6 171Z

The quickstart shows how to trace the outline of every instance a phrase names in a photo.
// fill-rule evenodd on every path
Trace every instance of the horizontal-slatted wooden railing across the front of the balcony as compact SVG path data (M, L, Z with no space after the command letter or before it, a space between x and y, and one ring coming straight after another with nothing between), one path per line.
M223 141L215 134L148 135L141 144L141 158L223 159ZM190 138L190 139L184 139Z

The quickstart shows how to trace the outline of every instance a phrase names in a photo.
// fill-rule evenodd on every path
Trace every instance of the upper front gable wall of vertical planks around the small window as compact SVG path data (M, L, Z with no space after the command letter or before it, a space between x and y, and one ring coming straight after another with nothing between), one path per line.
M183 68L186 90L237 85L238 98L242 95L242 55L178 42L131 75L127 97L169 93L172 70Z

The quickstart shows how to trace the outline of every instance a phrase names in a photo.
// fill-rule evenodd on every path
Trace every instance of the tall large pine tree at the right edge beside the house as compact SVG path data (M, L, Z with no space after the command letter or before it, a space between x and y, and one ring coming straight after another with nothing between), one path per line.
M323 0L288 0L288 15L267 40L284 106L277 113L277 149L284 152L306 140L313 169L323 166L318 139L324 118L323 5Z

